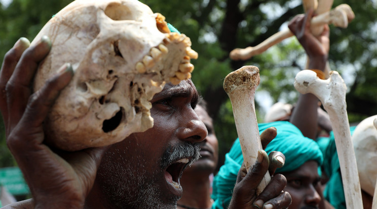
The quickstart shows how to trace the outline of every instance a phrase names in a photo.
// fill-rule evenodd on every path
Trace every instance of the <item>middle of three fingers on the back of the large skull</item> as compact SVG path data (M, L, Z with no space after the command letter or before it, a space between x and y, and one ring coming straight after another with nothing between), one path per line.
M47 56L51 41L43 36L39 42L29 47L22 54L7 85L7 106L9 127L12 129L21 119L28 98L31 94L31 82L38 64Z

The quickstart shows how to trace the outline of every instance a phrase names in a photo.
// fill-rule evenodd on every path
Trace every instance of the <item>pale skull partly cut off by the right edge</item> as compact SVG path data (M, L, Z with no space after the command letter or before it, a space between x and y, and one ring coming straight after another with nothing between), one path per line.
M373 120L377 115L359 123L352 135L361 189L373 196L377 181L377 129Z

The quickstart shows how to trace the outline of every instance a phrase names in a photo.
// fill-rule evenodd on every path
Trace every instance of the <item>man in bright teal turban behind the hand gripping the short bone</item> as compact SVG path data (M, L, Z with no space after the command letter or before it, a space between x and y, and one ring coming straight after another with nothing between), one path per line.
M277 121L258 124L260 132L271 126L277 129L278 134L267 145L266 151L270 153L272 150L277 150L285 155L285 165L276 169L275 173L286 175L288 183L284 191L288 191L292 196L292 204L289 208L300 208L298 207L299 203L318 207L321 197L317 191L319 188L319 174L317 171L318 166L323 161L321 150L315 141L304 137L289 122ZM215 200L215 208L227 208L242 162L241 146L239 139L237 139L230 152L225 155L225 163L213 182L212 197ZM298 195L306 195L309 199L306 200ZM305 203L304 200L306 201ZM260 208L261 205L263 205L263 202L259 205Z

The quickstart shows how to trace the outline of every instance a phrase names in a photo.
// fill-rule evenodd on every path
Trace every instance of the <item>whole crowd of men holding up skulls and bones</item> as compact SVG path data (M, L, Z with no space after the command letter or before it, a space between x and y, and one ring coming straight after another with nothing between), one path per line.
M325 74L329 27L315 37L312 17L309 10L288 27L308 55L308 69ZM310 93L300 94L294 107L279 104L258 124L263 149L249 171L235 139L216 172L221 143L216 121L190 79L168 83L153 97L154 126L145 132L106 147L75 152L50 148L44 144L43 122L74 74L64 65L41 90L30 91L35 70L51 47L48 37L30 47L21 38L1 69L7 144L32 195L5 208L346 208L331 124ZM373 130L370 135L363 134L365 126ZM364 208L372 208L377 130L370 123L353 130ZM267 171L271 181L257 195Z

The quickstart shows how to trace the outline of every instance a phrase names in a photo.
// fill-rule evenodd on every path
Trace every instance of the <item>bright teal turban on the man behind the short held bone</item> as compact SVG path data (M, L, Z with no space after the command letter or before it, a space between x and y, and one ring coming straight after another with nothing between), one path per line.
M266 147L266 152L280 151L285 155L285 165L276 173L293 171L305 162L314 160L322 165L323 156L318 144L305 137L293 124L286 121L258 124L259 132L269 127L277 129L277 136ZM243 163L240 140L236 139L229 153L225 154L225 163L214 178L212 208L227 208L232 198L237 174Z

